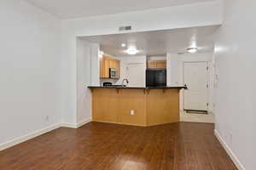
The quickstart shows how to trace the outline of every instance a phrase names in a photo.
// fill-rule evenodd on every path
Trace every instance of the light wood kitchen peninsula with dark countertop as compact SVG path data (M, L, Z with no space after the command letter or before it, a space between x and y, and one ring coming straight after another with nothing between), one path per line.
M179 93L187 87L90 86L92 119L126 125L154 126L179 122Z

